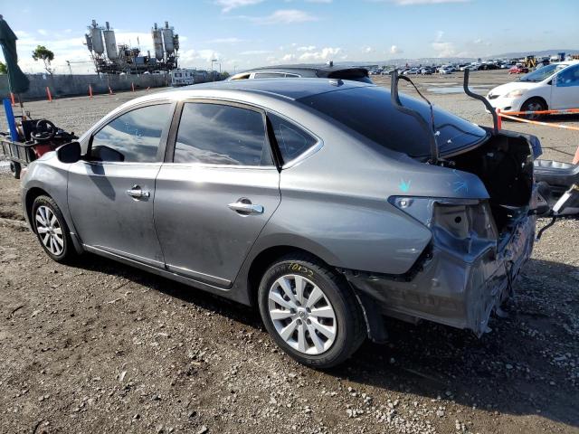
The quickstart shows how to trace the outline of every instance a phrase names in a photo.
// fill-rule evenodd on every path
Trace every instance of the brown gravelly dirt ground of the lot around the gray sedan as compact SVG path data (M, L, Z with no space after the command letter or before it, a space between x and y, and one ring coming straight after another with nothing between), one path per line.
M508 79L472 75L480 92ZM135 96L26 107L82 132ZM489 125L478 101L426 96ZM536 134L547 158L570 161L578 145L573 131L504 127ZM389 320L388 344L318 372L280 353L247 307L93 255L52 262L24 228L18 182L0 173L0 432L579 432L577 246L577 219L546 231L508 318L491 318L480 339Z

